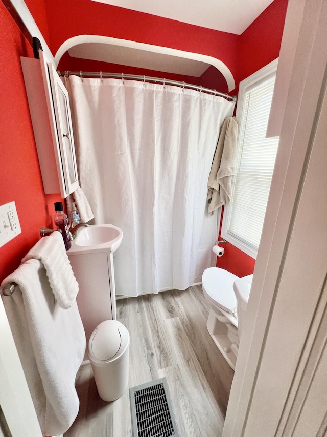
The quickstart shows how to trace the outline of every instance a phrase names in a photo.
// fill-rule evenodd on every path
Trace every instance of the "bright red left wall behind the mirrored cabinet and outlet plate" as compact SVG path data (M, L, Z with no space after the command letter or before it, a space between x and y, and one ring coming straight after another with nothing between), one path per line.
M53 203L44 195L19 56L33 50L0 2L1 172L0 204L15 201L21 234L0 248L0 282L16 269L39 239L42 226L52 227Z

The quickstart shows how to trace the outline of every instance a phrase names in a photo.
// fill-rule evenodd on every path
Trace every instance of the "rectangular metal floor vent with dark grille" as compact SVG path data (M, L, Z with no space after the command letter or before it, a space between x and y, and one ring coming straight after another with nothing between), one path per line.
M179 437L166 378L129 389L133 437Z

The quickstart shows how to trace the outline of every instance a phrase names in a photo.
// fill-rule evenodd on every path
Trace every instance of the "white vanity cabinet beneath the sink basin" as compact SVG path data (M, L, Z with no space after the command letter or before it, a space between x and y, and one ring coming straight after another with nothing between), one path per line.
M76 301L88 341L99 323L116 319L113 255L108 251L67 255L79 284Z

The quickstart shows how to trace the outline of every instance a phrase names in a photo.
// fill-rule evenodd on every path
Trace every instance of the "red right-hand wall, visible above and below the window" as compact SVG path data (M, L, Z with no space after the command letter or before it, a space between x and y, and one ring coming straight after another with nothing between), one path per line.
M274 0L242 33L238 48L238 83L279 56L287 3L288 0ZM217 258L218 267L240 277L253 273L253 258L230 243L223 246L225 252L223 257Z

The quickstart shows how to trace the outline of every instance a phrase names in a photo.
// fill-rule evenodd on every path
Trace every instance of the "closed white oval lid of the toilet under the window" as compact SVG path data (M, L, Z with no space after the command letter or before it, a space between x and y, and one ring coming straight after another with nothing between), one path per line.
M233 292L233 283L239 279L227 270L209 267L202 275L202 287L212 302L228 313L236 313L237 300Z

